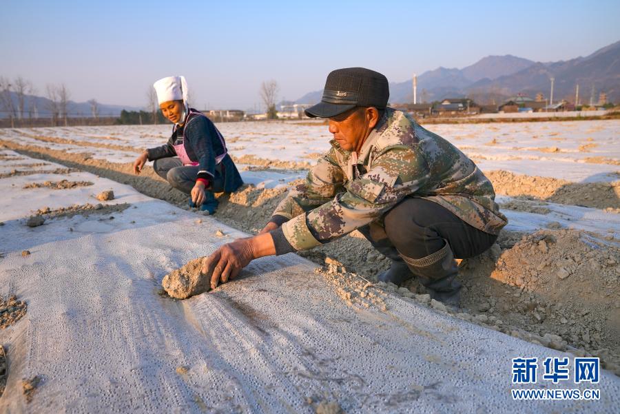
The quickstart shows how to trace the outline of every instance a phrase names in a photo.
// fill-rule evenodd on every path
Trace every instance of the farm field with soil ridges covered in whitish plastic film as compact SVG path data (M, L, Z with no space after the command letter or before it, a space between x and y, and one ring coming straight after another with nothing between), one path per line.
M247 185L220 196L218 211L207 217L190 210L187 196L171 189L152 168L145 168L140 176L132 173L134 158L146 147L163 145L170 125L0 130L4 194L0 296L16 293L18 300L28 302L28 310L19 318L16 311L14 327L5 331L2 342L19 344L8 349L8 360L14 358L23 365L12 369L21 370L23 377L41 375L41 393L51 398L62 387L76 389L52 399L56 407L70 406L63 398L83 397L78 391L81 382L89 384L92 392L103 392L152 377L154 389L163 390L161 395L151 395L152 405L140 396L152 391L141 384L117 402L118 409L225 410L216 405L224 400L239 411L260 410L256 407L278 411L289 404L296 411L311 412L335 400L353 411L364 406L365 412L373 412L373 406L389 404L411 408L415 397L411 387L396 386L393 392L382 388L382 381L389 383L391 374L381 370L392 364L391 358L402 375L413 375L405 371L415 371L416 356L426 358L430 365L417 366L424 380L416 386L424 390L440 375L433 364L457 360L458 355L446 356L450 348L445 342L457 337L463 345L479 335L490 338L486 346L493 351L482 357L490 364L508 362L502 360L505 349L495 350L506 344L514 352L525 349L537 355L599 356L610 387L609 399L601 401L608 405L601 405L601 411L617 406L613 399L620 391L620 379L613 374L620 375L620 121L427 126L484 171L509 220L497 244L466 260L460 269L465 289L459 313L433 309L415 280L407 289L378 285L385 309L376 303L369 309L360 302L347 303L338 291L359 289L355 275L373 282L389 267L389 260L357 231L312 251L253 262L247 277L215 293L186 301L158 296L169 271L224 242L262 229L287 189L299 183L329 148L327 125L320 122L221 123L218 128ZM114 200L94 198L107 189L114 191ZM26 222L31 216L44 218L43 224L29 227ZM217 230L224 236L216 236ZM23 256L23 251L29 253ZM313 270L316 266L323 266L318 273ZM256 296L257 289L262 296ZM302 298L294 297L304 289L308 293ZM318 306L323 302L326 309ZM294 311L274 319L273 303L277 309ZM389 312L404 324L388 318ZM61 322L48 326L50 315ZM224 317L227 322L220 326L218 321ZM356 318L362 322L351 322ZM426 322L417 325L422 319ZM400 327L395 338L402 352L386 356L360 340L355 352L372 355L369 358L375 361L361 368L357 357L351 356L355 356L351 341L360 335L369 335L377 343L389 340L387 331L372 329L382 324ZM338 337L342 326L347 328ZM453 331L462 333L455 337ZM408 342L412 332L418 339ZM436 355L420 351L428 345L424 341L429 335L440 338L431 342L442 343L437 353L447 359L441 363ZM64 345L45 349L50 338ZM94 349L95 338L106 338L100 351ZM122 338L131 340L123 343ZM206 343L208 338L221 338L221 343ZM322 341L331 347L324 347ZM226 353L231 346L240 346L237 352L250 355L248 366ZM80 347L88 351L76 352ZM123 354L114 355L114 349ZM289 351L293 357L287 360L282 354ZM407 353L413 356L406 357ZM206 354L216 356L209 360L203 357ZM349 356L339 360L342 355ZM54 371L54 358L73 362L70 380ZM474 365L468 365L470 374L482 375ZM104 376L87 378L92 369ZM347 384L324 378L328 371L345 373ZM296 379L291 373L296 373ZM360 375L359 386L353 384L354 373ZM442 384L441 390L455 387L458 378ZM169 385L162 389L164 383ZM214 394L198 386L222 383L225 386ZM493 383L484 380L459 395L471 392L482 397L499 390ZM8 383L5 393L21 393L10 386L17 385ZM482 391L485 387L488 390ZM254 394L259 388L273 393ZM377 389L384 399L367 396ZM425 398L431 398L413 389L421 393L418 397L424 404ZM437 391L433 398L441 393ZM81 401L87 404L88 400ZM0 402L16 411L23 407L21 395ZM38 412L37 407L43 410L36 399L32 404L32 412ZM446 400L445 404L464 403ZM475 411L464 406L459 409ZM493 407L497 409L490 411L508 409L499 403ZM543 408L533 404L530 409Z

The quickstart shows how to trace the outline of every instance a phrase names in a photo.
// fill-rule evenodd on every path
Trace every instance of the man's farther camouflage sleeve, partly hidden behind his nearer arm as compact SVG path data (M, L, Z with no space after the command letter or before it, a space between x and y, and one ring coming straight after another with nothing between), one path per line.
M280 201L272 216L282 216L287 219L299 216L305 211L327 203L335 194L342 191L344 173L335 161L334 149L319 158L303 184L291 189L289 194Z

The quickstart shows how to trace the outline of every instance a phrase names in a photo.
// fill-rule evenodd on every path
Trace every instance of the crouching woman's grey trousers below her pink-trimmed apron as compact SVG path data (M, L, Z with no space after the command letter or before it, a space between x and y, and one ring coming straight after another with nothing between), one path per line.
M198 165L183 166L179 158L159 158L153 163L155 172L167 180L172 187L190 194L196 184L196 177L200 167ZM224 177L222 175L221 164L216 165L216 174L211 180L211 186L207 188L211 192L221 193L224 191Z

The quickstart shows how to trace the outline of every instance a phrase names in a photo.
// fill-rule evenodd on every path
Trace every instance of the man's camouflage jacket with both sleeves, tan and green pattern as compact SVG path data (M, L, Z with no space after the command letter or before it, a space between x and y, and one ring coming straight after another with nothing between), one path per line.
M457 147L411 116L388 108L360 154L331 141L306 181L273 212L296 250L339 238L382 216L405 197L431 200L469 225L498 234L507 223L493 185ZM277 216L281 216L281 219Z

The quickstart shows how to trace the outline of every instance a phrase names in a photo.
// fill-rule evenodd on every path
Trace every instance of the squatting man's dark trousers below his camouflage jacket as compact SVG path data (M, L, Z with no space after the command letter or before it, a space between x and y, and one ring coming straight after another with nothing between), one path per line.
M359 230L390 258L393 257L389 249L393 247L409 258L424 258L442 249L444 239L455 258L471 258L497 240L497 236L468 225L448 209L424 198L405 198L384 215L384 227L371 223Z

